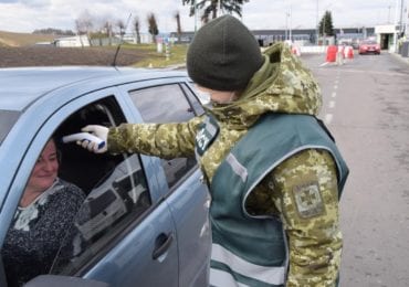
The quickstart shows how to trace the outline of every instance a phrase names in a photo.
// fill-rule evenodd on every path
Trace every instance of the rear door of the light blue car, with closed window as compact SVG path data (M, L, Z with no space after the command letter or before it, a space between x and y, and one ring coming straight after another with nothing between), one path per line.
M159 79L150 86L120 87L146 123L181 123L203 113L186 78ZM161 189L176 224L179 286L207 286L210 256L209 193L195 156L162 159L167 188ZM195 256L192 256L195 254Z

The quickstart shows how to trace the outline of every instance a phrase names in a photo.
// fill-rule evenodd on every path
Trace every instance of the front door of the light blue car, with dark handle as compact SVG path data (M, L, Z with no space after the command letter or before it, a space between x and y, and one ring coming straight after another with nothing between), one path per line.
M36 129L32 132L35 136L4 201L3 226L9 226L24 182L48 138L80 131L87 124L116 126L133 116L117 94L116 88L101 89L62 106L54 100L55 106L46 109L44 103L33 104L25 111L22 127L30 126L30 115L35 117L40 110L46 110L46 117L38 126L30 126ZM177 233L169 206L160 195L160 163L139 155L93 155L75 144L60 148L60 177L81 187L87 199L50 273L109 286L178 286Z

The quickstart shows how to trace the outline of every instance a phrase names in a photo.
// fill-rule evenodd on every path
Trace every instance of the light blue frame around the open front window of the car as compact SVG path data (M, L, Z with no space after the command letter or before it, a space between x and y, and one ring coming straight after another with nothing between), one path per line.
M32 139L27 145L23 156L21 155L19 156L19 158L21 158L21 161L19 162L19 168L13 179L11 180L10 190L3 202L4 209L1 211L0 220L2 223L4 223L6 226L2 226L1 228L1 242L3 242L6 237L12 217L18 208L20 198L22 196L22 193L24 191L24 187L30 178L32 168L34 167L38 156L41 153L48 139L51 136L53 136L55 130L61 126L62 123L64 123L72 115L73 111L77 111L81 108L91 105L94 102L102 100L103 98L106 97L113 97L117 102L118 107L122 109L122 113L124 114L124 117L127 120L127 123L133 121L132 118L134 115L130 114L129 109L126 107L126 105L124 105L124 102L122 100L119 94L120 93L118 93L117 87L107 87L102 88L99 91L93 91L84 95L78 95L78 97L76 97L75 99L71 99L66 103L62 103L60 106L53 107L53 111L45 116L41 125L36 126L39 128L36 130L32 130L33 135ZM153 166L151 159L149 157L139 157L139 160L143 168ZM149 172L149 169L147 171ZM150 171L149 174L146 174L146 178L148 177L149 180L147 184L151 193L153 202L151 206L148 209L147 214L141 214L133 223L127 224L125 228L123 228L120 232L116 234L115 238L112 238L109 241L109 244L104 246L104 248L99 249L98 254L94 256L93 259L84 264L84 266L82 266L82 268L80 268L73 275L82 276L86 274L86 272L91 269L93 265L95 265L98 262L99 258L104 257L107 253L109 253L109 251L115 246L115 244L118 241L120 241L122 237L126 236L126 234L133 231L135 228L135 225L144 221L144 219L148 216L149 213L151 213L151 210L154 210L158 204L160 204L162 199L161 194L158 192L159 185L157 184L155 173Z

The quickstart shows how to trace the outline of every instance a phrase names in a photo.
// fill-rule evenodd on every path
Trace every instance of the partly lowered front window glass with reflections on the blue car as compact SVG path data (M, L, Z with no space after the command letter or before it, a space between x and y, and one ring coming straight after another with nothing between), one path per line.
M91 190L66 234L51 274L72 275L92 262L150 205L139 158L133 155Z

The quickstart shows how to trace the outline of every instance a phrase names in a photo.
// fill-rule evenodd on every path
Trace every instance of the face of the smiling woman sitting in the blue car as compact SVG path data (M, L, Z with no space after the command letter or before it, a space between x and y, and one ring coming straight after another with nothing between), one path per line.
M45 191L53 184L57 176L57 170L59 160L55 144L53 140L50 140L35 162L27 190L35 192Z

